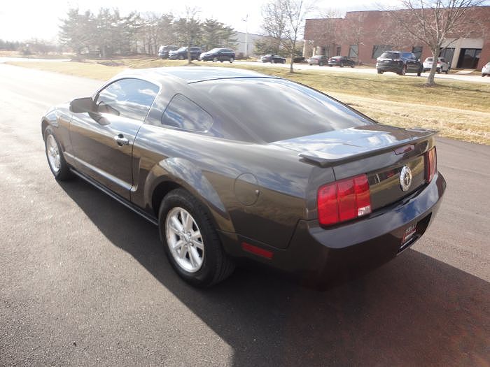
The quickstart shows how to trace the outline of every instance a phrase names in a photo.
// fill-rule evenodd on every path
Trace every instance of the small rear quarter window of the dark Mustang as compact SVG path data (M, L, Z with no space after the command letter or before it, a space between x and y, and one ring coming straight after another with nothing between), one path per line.
M205 133L213 124L213 117L183 94L176 94L163 113L162 124Z

